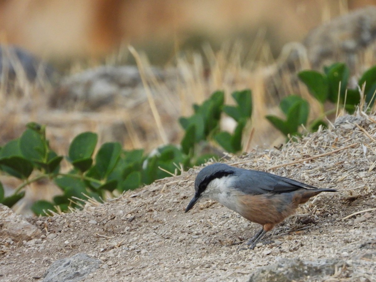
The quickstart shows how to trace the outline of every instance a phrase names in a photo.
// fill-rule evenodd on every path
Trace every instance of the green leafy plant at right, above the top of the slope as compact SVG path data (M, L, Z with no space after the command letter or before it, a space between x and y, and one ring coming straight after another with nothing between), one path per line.
M266 118L284 135L300 136L299 126L303 125L310 131L316 131L320 125L326 127L323 118L337 110L337 103L350 114L361 102L359 89L349 89L350 70L343 63L335 63L324 67L324 73L315 70L304 70L298 77L307 86L309 93L321 104L321 115L307 124L309 105L305 99L298 96L290 96L282 100L280 108L286 116L282 120L276 116L268 115ZM365 103L368 108L373 107L376 95L376 66L365 71L358 81L358 85L364 87ZM292 98L291 98L292 97ZM329 111L324 111L324 103L331 102L335 106Z

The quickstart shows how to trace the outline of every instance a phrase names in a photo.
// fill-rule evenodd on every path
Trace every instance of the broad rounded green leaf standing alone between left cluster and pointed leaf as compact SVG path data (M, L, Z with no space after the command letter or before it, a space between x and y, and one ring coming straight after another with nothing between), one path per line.
M74 137L69 147L68 157L71 162L91 158L97 145L98 135L93 132L83 132Z

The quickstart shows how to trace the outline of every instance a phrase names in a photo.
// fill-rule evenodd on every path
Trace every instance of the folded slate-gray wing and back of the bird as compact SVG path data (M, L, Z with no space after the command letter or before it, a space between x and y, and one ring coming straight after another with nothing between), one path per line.
M288 193L304 188L316 188L287 177L257 170L238 169L232 186L247 194Z

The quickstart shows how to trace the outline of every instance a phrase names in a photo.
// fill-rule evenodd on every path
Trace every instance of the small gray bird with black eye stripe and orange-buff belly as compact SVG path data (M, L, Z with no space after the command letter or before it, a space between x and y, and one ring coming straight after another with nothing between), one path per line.
M262 225L247 244L254 249L256 243L274 225L293 214L296 208L321 192L334 189L314 186L271 173L231 167L215 163L203 168L194 183L196 193L188 204L188 212L199 199L217 200L242 217Z

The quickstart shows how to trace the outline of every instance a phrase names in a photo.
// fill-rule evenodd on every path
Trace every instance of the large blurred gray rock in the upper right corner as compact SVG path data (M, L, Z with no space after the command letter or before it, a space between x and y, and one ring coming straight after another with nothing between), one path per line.
M352 76L359 75L364 71L364 66L360 66L364 52L376 52L373 45L375 39L376 6L335 18L311 30L302 43L291 42L283 47L276 64L266 70L265 90L273 97L281 98L294 92L299 93L299 71L323 71L324 65L334 62L345 62ZM368 67L374 63L376 61L367 61L370 64ZM355 87L356 81L350 78L349 83L353 84L350 87Z

